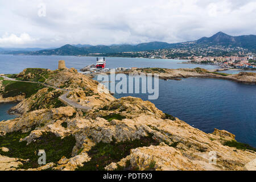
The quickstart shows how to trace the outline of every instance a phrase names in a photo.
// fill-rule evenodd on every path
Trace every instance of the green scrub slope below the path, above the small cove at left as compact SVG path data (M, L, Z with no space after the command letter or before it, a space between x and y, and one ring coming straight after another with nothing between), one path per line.
M28 98L45 87L42 84L9 80L4 80L3 85L5 86L5 90L2 92L3 98L20 96L22 94L25 94L26 98Z

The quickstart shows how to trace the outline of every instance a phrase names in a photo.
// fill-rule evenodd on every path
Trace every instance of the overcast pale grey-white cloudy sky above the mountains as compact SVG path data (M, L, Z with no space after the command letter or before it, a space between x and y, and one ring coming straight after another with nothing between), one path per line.
M0 0L0 47L186 42L256 34L255 0Z

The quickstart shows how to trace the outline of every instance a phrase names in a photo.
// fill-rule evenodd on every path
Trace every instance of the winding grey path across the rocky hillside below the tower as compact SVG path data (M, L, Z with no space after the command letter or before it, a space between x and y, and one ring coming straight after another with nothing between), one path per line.
M19 81L19 82L30 82L30 83L34 83L34 84L42 84L46 87L51 87L53 89L59 89L59 90L62 90L66 93L62 94L60 97L59 97L59 100L61 102L64 102L64 104L67 104L69 106L72 106L72 107L75 107L77 109L81 109L83 111L87 111L87 110L90 110L92 109L92 107L89 107L89 106L82 106L80 104L78 104L77 102L75 101L72 101L70 100L69 98L67 98L68 94L71 92L71 90L65 90L65 89L61 89L61 88L57 88L56 86L52 86L52 85L48 85L48 84L45 84L45 83L42 83L42 82L36 82L36 81L22 81L22 80L16 80L14 78L9 78L7 76L0 76L0 77L3 77L5 80L9 80L9 81Z

